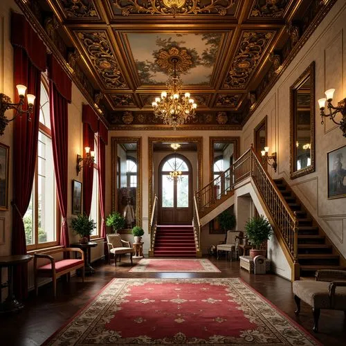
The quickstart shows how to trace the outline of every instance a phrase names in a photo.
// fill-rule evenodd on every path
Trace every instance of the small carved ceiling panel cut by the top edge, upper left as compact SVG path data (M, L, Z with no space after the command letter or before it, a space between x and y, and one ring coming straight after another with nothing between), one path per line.
M60 0L59 2L68 18L100 18L92 0Z

